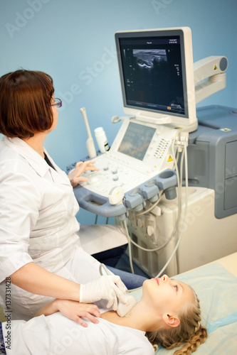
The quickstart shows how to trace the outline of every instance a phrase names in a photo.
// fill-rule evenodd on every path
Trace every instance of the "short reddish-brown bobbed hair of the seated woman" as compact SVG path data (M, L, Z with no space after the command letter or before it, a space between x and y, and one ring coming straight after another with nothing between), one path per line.
M45 72L16 70L0 77L0 133L30 138L53 124L53 79Z

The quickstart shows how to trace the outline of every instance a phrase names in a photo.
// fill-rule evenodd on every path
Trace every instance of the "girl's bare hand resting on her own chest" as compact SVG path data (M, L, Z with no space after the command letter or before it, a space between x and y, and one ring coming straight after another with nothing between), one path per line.
M60 312L65 317L74 320L83 327L88 327L88 324L84 322L81 317L88 318L88 320L95 324L99 322L95 317L100 317L100 311L96 305L59 299L53 300L53 302L42 307L35 317L39 315L52 315L56 312Z

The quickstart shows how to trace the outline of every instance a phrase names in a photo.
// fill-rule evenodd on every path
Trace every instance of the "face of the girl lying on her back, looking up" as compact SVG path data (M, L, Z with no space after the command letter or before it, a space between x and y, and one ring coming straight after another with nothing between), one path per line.
M162 315L172 312L177 314L184 305L194 300L194 293L186 283L171 280L167 275L145 280L142 296L147 302L152 302L154 312Z

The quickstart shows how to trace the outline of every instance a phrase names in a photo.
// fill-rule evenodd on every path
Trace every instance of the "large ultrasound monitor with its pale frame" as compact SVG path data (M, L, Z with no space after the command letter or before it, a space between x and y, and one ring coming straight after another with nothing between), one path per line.
M197 128L191 29L115 33L125 114Z

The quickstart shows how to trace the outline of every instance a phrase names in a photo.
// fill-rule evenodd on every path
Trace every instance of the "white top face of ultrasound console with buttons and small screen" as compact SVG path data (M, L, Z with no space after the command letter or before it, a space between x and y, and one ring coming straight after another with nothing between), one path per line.
M165 126L124 122L110 151L93 159L100 170L84 173L88 181L81 185L107 197L112 187L121 186L127 192L162 170L173 168L175 133Z

